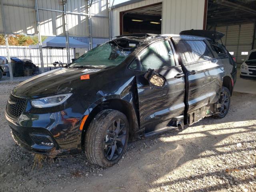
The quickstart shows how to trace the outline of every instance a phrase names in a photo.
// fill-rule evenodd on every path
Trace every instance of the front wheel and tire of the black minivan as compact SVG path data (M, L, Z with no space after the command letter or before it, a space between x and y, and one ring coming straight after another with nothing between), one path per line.
M124 154L129 137L126 116L117 110L103 110L90 123L85 135L87 159L102 167L116 164Z

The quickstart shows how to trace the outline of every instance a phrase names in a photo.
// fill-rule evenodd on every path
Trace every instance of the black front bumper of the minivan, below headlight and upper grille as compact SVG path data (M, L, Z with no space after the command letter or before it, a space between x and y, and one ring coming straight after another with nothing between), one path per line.
M54 119L52 114L38 114L36 119L33 118L35 115L29 117L22 114L16 120L6 113L6 119L12 138L28 152L51 157L81 153L81 140L78 139L79 129L74 124L70 126L68 122L63 123L58 116L59 113L54 113ZM70 130L71 127L73 130Z

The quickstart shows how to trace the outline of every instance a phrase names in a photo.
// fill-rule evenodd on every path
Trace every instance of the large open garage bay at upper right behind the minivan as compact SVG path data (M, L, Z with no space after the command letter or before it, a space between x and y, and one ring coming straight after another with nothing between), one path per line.
M225 34L223 44L242 63L255 47L256 0L208 0L207 29Z

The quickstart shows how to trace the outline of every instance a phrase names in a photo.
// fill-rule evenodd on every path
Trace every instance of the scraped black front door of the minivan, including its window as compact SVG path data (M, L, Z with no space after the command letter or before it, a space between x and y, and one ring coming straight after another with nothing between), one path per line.
M134 62L140 65L140 71L136 71L140 128L150 134L173 126L172 120L184 115L185 80L181 66L174 59L171 42L151 44ZM145 78L148 69L164 79L163 86L155 86Z

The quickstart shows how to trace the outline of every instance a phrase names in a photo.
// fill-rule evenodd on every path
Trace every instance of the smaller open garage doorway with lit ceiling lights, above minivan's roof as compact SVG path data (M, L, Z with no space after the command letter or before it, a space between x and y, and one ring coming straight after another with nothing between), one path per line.
M162 3L120 12L120 35L134 33L161 34Z

